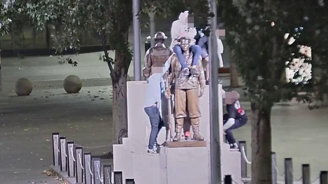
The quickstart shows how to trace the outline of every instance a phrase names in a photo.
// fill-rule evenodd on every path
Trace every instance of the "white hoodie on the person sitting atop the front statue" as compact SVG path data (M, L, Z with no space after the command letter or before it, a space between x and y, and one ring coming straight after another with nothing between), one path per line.
M188 27L188 15L189 11L184 11L180 14L178 20L174 21L172 23L171 27L171 45L170 48L173 49L173 47L178 43L176 39L179 39L181 37L186 37L191 39L191 43L195 44L194 37L197 34L196 28L189 28Z

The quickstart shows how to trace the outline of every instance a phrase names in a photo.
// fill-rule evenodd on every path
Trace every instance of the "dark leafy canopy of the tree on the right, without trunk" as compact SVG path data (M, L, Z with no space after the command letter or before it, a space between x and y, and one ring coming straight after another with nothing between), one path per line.
M286 83L283 75L286 61L292 58L291 53L298 53L302 45L310 46L313 55L320 55L321 60L326 58L327 50L323 42L327 43L327 38L323 38L324 34L314 34L327 30L326 25L322 26L322 22L328 21L325 16L326 5L306 0L228 0L219 1L219 4L226 23L227 42L236 53L234 59L238 63L252 102L258 107L271 107L275 102L293 97L311 101L308 97L314 92L313 85L317 80L322 80L322 77L307 77L309 83L301 82L295 85ZM295 5L299 6L295 8ZM313 11L314 9L316 11ZM295 33L295 28L304 30L302 34ZM294 44L286 44L286 33L290 33L291 37L296 34L298 38ZM317 59L312 58L313 65L318 63ZM304 72L301 75L304 78ZM300 78L295 75L294 80ZM304 93L307 95L302 95Z

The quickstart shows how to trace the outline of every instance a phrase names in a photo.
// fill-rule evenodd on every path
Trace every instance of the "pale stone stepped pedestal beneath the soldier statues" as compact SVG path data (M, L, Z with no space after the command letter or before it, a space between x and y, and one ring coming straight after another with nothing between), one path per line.
M128 138L123 144L114 145L114 171L123 172L125 178L133 178L142 184L175 184L175 183L210 183L210 134L209 134L209 88L206 86L203 97L199 100L201 118L200 134L205 141L168 143L167 147L158 148L159 154L149 154L148 139L150 134L149 118L144 112L144 101L147 89L145 81L130 81L128 94ZM222 86L219 84L218 90ZM222 97L219 93L218 115L221 132L223 132ZM222 174L232 175L237 183L241 181L241 156L238 151L231 151L223 142ZM162 128L158 134L159 144L166 142L166 130Z

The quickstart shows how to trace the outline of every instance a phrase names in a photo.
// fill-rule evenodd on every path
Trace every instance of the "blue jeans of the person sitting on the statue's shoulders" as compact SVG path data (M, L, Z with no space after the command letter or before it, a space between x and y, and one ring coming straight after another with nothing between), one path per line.
M191 45L190 50L191 52L194 53L194 58L192 60L191 65L198 65L199 56L201 55L202 52L201 47L199 45ZM186 58L183 56L181 47L179 45L175 45L173 47L173 51L177 54L181 67L186 68L187 67Z

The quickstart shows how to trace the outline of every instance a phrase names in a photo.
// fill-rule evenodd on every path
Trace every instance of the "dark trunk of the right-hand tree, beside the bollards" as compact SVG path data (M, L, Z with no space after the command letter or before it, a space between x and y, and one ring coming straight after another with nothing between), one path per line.
M252 109L252 183L271 184L271 107Z

